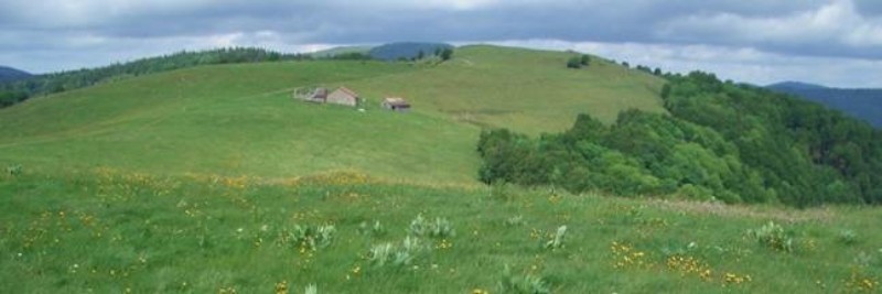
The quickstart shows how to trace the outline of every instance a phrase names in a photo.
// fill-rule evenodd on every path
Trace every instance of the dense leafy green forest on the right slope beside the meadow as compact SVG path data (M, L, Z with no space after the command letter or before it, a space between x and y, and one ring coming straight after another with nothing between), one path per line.
M882 204L882 132L821 105L712 74L666 75L669 115L622 112L605 126L529 138L485 130L485 183L571 192L797 207Z

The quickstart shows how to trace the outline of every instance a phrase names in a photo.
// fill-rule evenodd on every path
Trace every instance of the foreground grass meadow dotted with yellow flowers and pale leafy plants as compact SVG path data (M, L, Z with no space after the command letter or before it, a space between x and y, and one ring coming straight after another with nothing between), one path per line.
M10 293L878 293L882 274L873 208L99 170L3 176L0 209ZM768 221L789 247L751 237Z

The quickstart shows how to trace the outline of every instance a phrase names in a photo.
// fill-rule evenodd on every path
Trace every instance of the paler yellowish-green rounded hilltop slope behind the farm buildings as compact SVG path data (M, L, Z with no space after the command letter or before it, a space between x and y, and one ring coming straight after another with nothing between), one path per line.
M631 108L664 112L664 80L594 58L569 69L564 52L473 45L430 70L353 83L374 97L401 96L417 111L530 134L567 129L579 113L611 123Z

